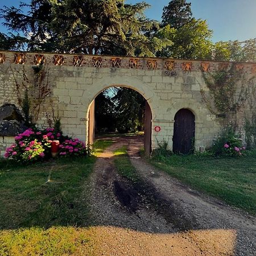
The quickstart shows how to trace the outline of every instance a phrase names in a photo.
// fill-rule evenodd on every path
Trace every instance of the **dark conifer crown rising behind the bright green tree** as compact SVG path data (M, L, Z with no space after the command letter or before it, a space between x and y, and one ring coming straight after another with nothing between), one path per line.
M170 25L180 28L192 19L191 3L186 0L172 0L168 6L164 6L162 15L162 26Z

